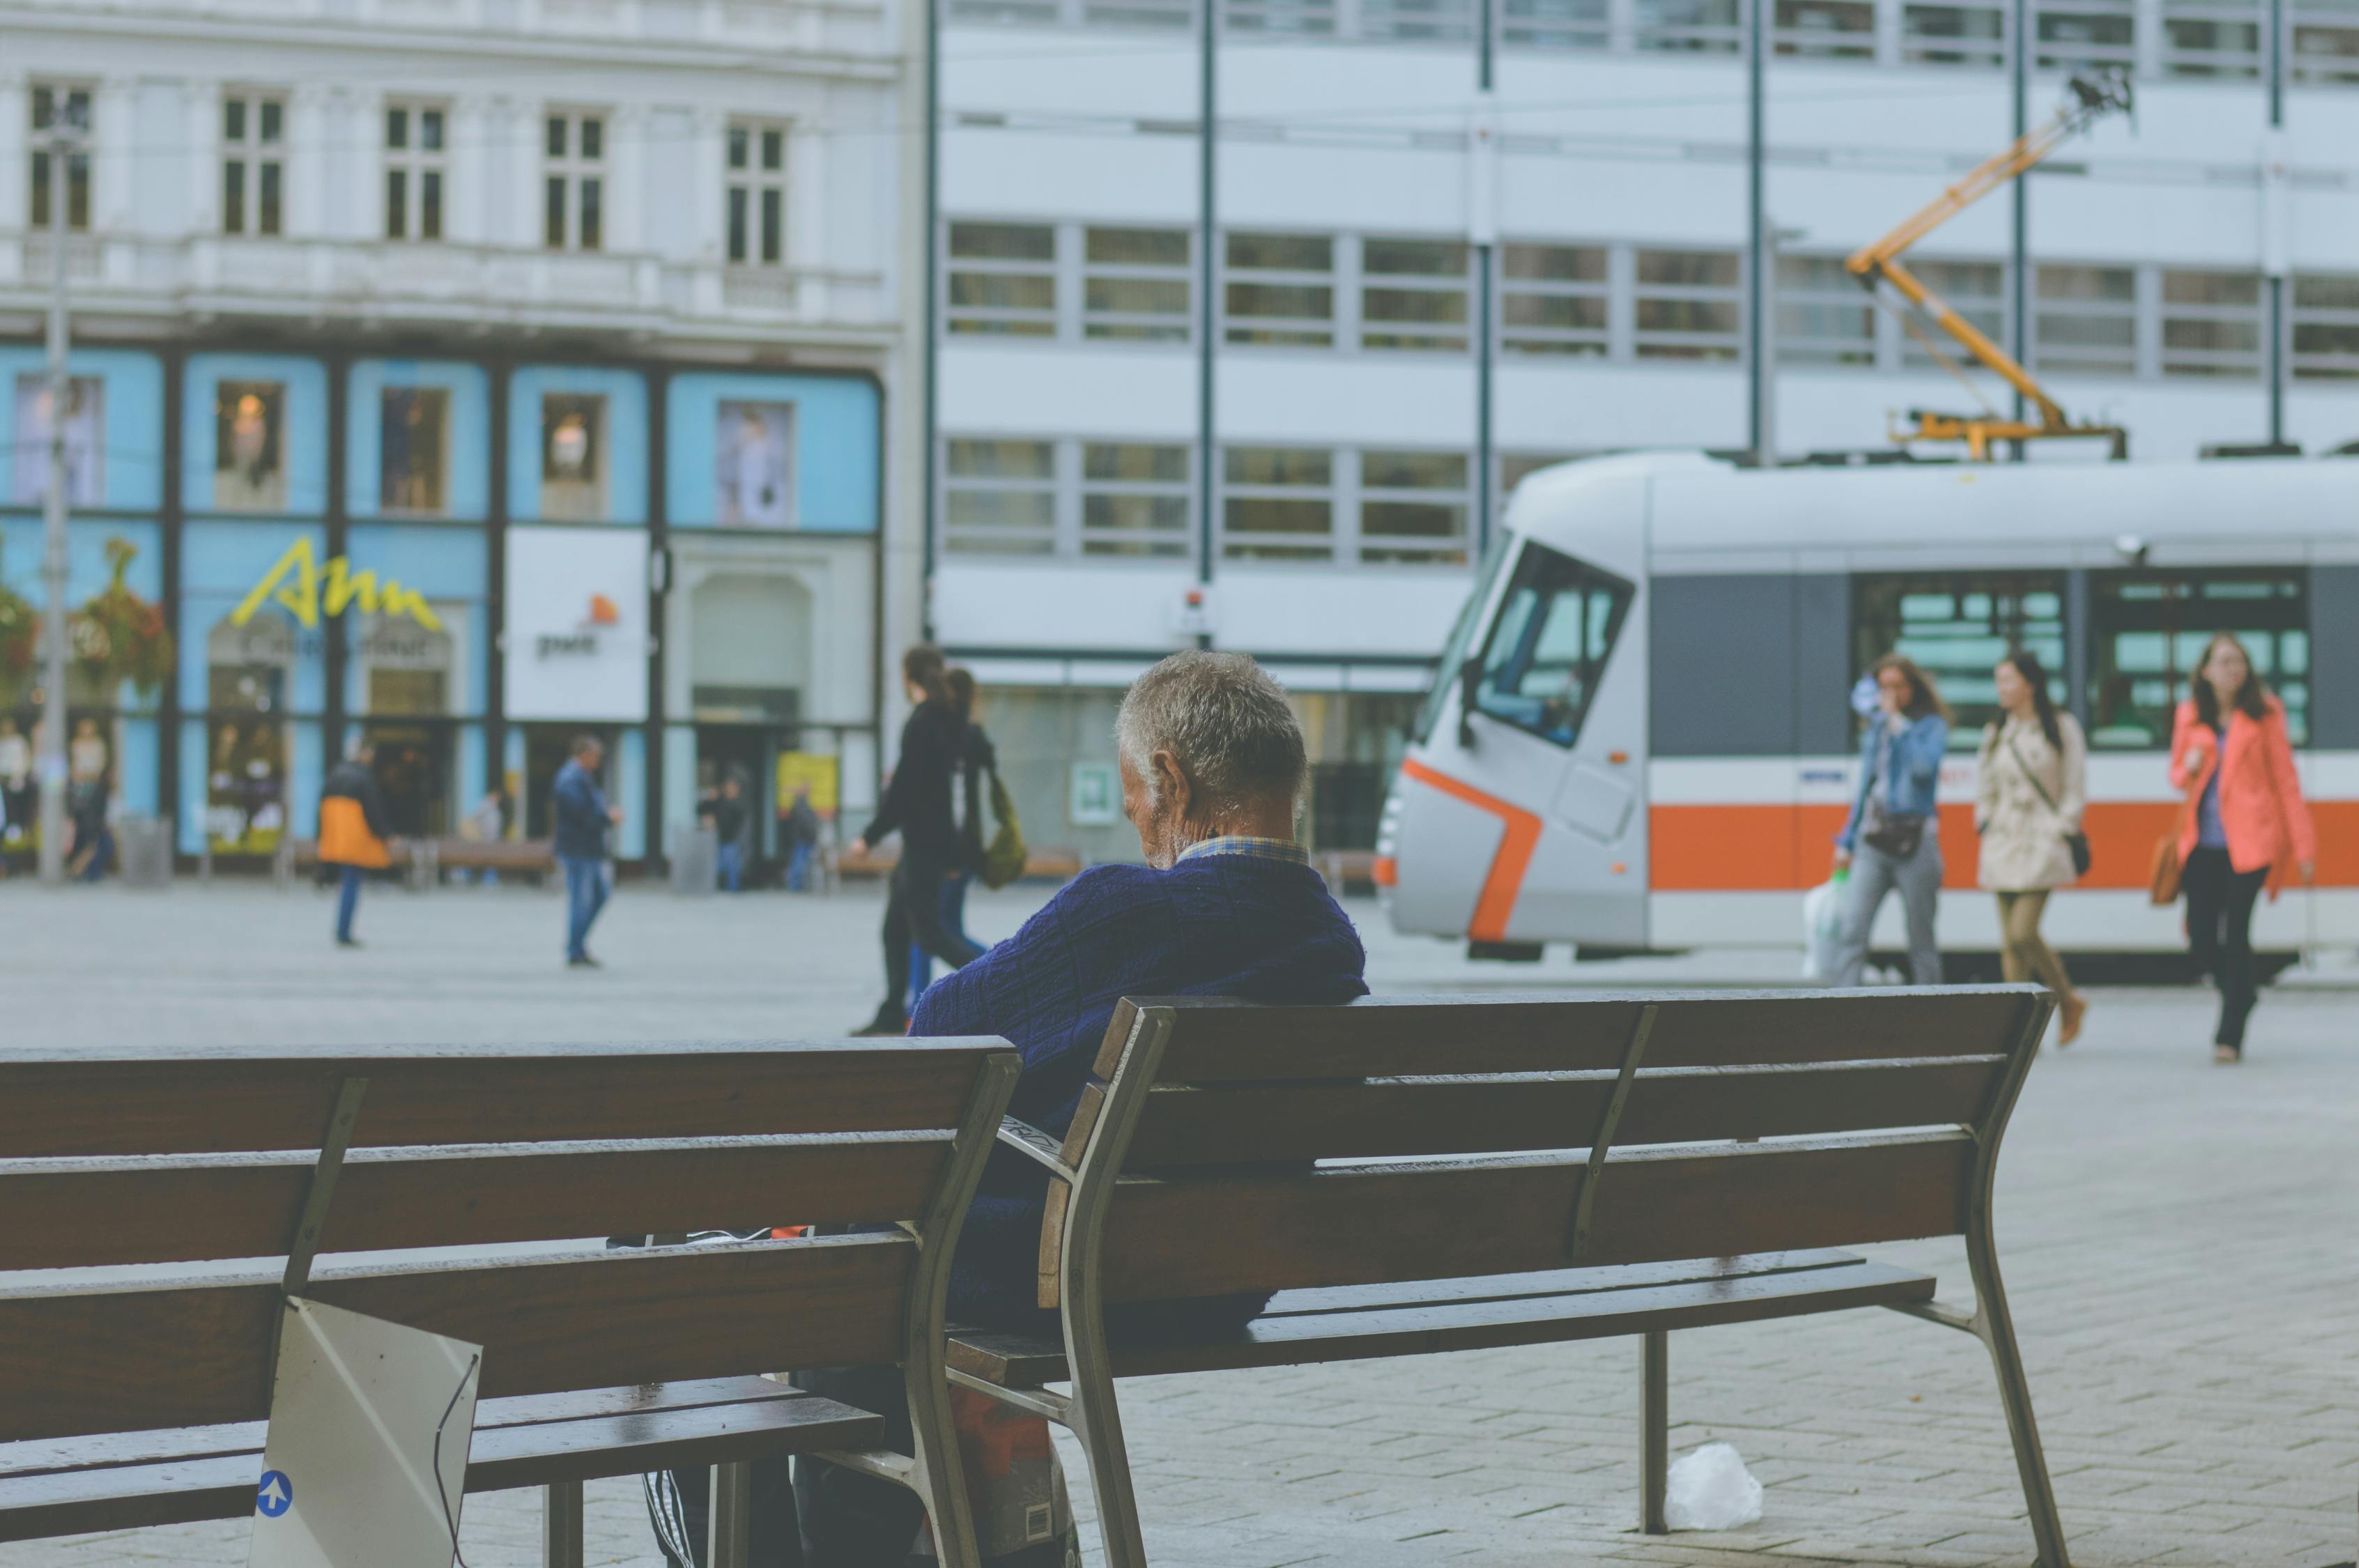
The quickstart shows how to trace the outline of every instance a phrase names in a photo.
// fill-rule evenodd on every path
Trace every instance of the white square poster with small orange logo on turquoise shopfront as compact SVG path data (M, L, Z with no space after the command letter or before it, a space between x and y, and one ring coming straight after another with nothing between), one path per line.
M507 717L646 719L646 533L507 531Z

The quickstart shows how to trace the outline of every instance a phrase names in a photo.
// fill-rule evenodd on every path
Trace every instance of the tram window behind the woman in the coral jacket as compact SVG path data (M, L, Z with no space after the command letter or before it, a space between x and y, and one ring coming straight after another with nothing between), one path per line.
M2309 573L2284 568L2116 571L2090 580L2088 743L2163 750L2187 677L2215 632L2234 632L2309 738Z

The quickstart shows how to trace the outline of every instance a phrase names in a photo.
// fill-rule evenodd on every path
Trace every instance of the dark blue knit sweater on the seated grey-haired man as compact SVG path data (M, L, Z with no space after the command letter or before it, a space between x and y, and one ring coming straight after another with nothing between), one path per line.
M1003 1035L1024 1054L1010 1113L1064 1134L1113 1004L1154 995L1349 1002L1368 995L1359 931L1309 865L1205 854L1170 870L1099 865L1010 941L934 983L911 1035ZM1047 1172L991 1153L951 1271L955 1323L1040 1327Z

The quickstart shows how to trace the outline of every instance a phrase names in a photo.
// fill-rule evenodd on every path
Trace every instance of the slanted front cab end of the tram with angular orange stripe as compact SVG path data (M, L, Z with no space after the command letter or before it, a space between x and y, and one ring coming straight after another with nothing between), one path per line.
M1477 943L1647 943L1644 479L1576 490L1576 528L1519 516L1439 724L1404 769L1397 924ZM1559 502L1562 505L1562 502ZM1581 554L1548 538L1578 538Z

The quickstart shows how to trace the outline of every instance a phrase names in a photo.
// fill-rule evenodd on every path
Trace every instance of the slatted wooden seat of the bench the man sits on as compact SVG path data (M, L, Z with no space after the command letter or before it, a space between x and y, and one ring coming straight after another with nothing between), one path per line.
M1840 1254L1838 1254L1840 1257ZM1161 1372L1220 1372L1378 1356L1425 1356L1512 1344L1559 1344L1618 1335L1750 1323L1852 1306L1927 1302L1934 1278L1859 1257L1814 1269L1743 1271L1753 1259L1720 1259L1734 1269L1680 1283L1640 1283L1614 1290L1573 1285L1559 1294L1514 1294L1401 1302L1375 1297L1361 1311L1269 1313L1238 1332L1205 1339L1137 1339L1113 1335L1116 1377ZM1578 1283L1597 1271L1564 1271ZM1345 1292L1335 1292L1338 1297ZM1064 1382L1064 1344L1033 1335L953 1332L951 1365L1010 1389Z

